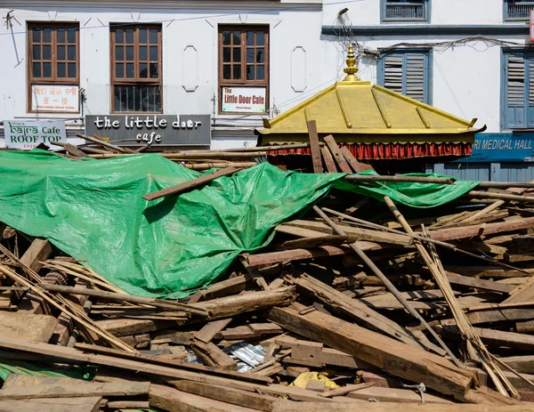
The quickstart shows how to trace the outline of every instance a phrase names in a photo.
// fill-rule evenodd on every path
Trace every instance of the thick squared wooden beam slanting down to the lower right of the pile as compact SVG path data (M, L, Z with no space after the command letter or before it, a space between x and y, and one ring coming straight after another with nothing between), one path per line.
M273 308L267 319L281 327L317 339L411 382L425 382L438 392L464 400L473 384L473 373L459 369L440 356L376 334L344 320L313 311L299 315L288 308Z

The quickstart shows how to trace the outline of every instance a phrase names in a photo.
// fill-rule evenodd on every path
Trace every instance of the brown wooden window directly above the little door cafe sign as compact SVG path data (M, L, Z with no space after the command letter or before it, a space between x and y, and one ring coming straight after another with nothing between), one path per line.
M161 61L161 25L111 28L112 113L161 113Z

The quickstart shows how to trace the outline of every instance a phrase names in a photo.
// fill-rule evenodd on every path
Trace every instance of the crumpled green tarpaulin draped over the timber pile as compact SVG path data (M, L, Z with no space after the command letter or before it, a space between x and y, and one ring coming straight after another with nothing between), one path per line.
M276 225L303 213L344 176L263 163L181 196L142 199L199 175L158 155L77 161L38 149L1 151L0 222L48 238L130 294L181 297L213 282L239 253L266 246ZM413 183L338 184L438 206L476 182L429 190Z

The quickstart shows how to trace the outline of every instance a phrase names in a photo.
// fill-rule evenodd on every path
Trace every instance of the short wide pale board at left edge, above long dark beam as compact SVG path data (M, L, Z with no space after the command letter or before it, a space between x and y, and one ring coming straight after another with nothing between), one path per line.
M0 335L47 343L53 335L58 319L49 315L4 311L0 315Z

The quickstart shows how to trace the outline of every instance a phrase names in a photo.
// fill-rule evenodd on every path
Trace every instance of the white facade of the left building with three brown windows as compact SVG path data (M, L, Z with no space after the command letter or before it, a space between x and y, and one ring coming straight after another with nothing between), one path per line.
M64 120L69 138L87 116L209 115L212 149L246 147L320 85L321 0L0 7L0 120Z

